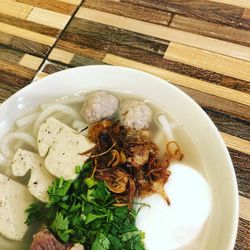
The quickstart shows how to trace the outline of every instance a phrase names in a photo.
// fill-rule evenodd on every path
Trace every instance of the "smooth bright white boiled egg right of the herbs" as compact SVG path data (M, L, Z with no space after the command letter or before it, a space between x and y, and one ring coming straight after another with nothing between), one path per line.
M183 247L193 250L197 245L200 247L197 239L205 230L211 212L207 181L196 170L183 164L174 164L170 170L165 191L171 205L168 206L158 194L140 200L150 205L150 208L142 208L136 219L137 227L145 232L147 250Z

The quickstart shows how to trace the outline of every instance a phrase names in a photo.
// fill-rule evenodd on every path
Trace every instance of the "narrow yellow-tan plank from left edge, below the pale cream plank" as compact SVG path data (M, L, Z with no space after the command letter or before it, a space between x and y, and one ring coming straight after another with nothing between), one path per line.
M54 44L54 42L56 41L55 38L50 37L50 36L46 36L46 35L42 35L42 34L38 34L36 32L30 31L30 30L26 30L26 29L22 29L19 27L15 27L6 23L2 23L0 22L0 31L10 34L10 35L14 35L14 36L18 36L24 39L28 39L37 43L42 43L45 45L49 45L52 46Z

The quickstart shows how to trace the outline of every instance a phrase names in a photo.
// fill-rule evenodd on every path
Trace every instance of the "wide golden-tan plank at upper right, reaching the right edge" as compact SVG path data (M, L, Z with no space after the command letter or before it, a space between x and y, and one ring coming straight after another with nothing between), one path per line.
M170 43L164 58L250 81L250 61L242 61L179 43ZM249 96L248 98L250 99Z

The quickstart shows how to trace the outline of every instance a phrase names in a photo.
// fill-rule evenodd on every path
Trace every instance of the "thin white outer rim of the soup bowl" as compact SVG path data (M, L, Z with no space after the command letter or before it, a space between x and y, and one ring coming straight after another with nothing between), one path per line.
M234 203L234 211L235 212L232 214L232 218L231 218L232 223L233 223L232 235L230 237L230 240L228 240L228 249L233 249L235 246L235 242L236 242L237 231L238 231L238 222L239 222L239 194L238 194L238 185L237 185L236 174L235 174L235 170L233 167L233 163L232 163L230 154L228 152L228 149L225 145L225 142L224 142L221 134L219 133L217 127L215 126L213 121L210 119L210 117L207 115L207 113L189 95L187 95L185 92L183 92L182 90L180 90L178 87L176 87L172 83L168 82L167 80L164 80L158 76L152 75L150 73L147 73L147 72L144 72L141 70L123 67L123 66L112 66L112 65L80 66L80 67L75 67L75 68L70 68L70 69L59 71L59 72L55 72L55 73L50 74L42 79L38 79L36 81L31 82L29 85L26 85L22 89L18 90L16 93L14 93L9 98L7 98L2 104L0 104L0 113L1 113L1 110L3 110L8 105L10 105L12 102L16 102L18 100L18 98L22 97L23 95L26 95L27 92L32 91L37 86L41 85L43 83L43 81L45 81L45 79L50 79L50 78L53 79L56 76L67 74L67 72L74 72L74 71L77 72L77 71L88 70L88 69L93 69L93 68L95 70L99 70L99 69L110 70L111 69L111 70L118 70L118 71L119 70L128 71L128 72L130 71L130 72L134 72L136 74L142 74L142 75L151 77L152 79L157 80L158 82L161 82L163 84L168 83L173 89L175 89L176 92L178 92L178 94L182 95L183 98L186 98L189 100L189 102L192 102L192 104L195 105L196 108L199 110L200 114L203 115L204 117L206 117L206 120L208 121L209 126L213 129L213 132L216 134L216 137L217 137L218 142L220 143L220 146L223 148L224 155L225 155L227 163L228 163L227 165L228 165L229 171L230 171L230 177L232 180L233 198L235 199L235 201L237 201ZM83 87L83 89L84 89L84 87Z

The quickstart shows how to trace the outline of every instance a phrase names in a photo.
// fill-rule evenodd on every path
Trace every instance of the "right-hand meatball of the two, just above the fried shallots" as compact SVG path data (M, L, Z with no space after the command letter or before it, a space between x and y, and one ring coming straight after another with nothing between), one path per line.
M125 127L136 130L148 129L152 120L152 110L143 101L125 101L120 110L120 120Z

